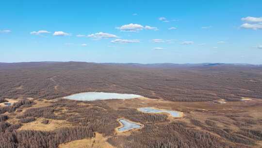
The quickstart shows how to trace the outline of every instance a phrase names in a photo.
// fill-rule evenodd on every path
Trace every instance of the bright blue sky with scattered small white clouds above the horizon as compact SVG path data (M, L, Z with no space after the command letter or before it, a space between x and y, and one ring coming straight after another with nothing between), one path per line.
M262 64L262 0L1 0L0 62Z

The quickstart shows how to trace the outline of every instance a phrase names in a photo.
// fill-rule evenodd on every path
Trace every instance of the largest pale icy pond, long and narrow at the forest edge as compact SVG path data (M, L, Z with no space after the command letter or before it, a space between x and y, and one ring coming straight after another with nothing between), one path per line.
M107 99L133 99L142 97L137 94L126 93L108 93L108 92L82 92L65 96L64 98L79 101L94 101L94 100L107 100Z

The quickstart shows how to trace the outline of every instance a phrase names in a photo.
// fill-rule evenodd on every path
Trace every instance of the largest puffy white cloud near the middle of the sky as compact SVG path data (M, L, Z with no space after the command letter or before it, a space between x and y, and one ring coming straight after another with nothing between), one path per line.
M158 28L157 27L151 27L151 26L143 26L143 25L140 25L140 24L127 24L127 25L123 25L121 27L116 27L116 29L119 29L120 31L126 31L126 32L139 32L143 29L146 29L146 30L155 30L157 31Z

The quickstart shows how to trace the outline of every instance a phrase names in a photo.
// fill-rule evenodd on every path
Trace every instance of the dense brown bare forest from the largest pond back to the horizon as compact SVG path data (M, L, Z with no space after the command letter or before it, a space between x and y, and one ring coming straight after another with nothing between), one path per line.
M134 93L170 101L262 98L262 66L0 63L0 97L53 99L77 92Z

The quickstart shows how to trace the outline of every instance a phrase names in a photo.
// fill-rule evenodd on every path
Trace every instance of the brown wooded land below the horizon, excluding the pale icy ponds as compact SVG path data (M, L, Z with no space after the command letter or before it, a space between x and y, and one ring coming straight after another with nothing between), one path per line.
M261 76L260 66L0 64L0 99L14 102L0 107L0 148L261 148ZM88 91L145 97L61 99ZM119 133L119 118L144 127Z

